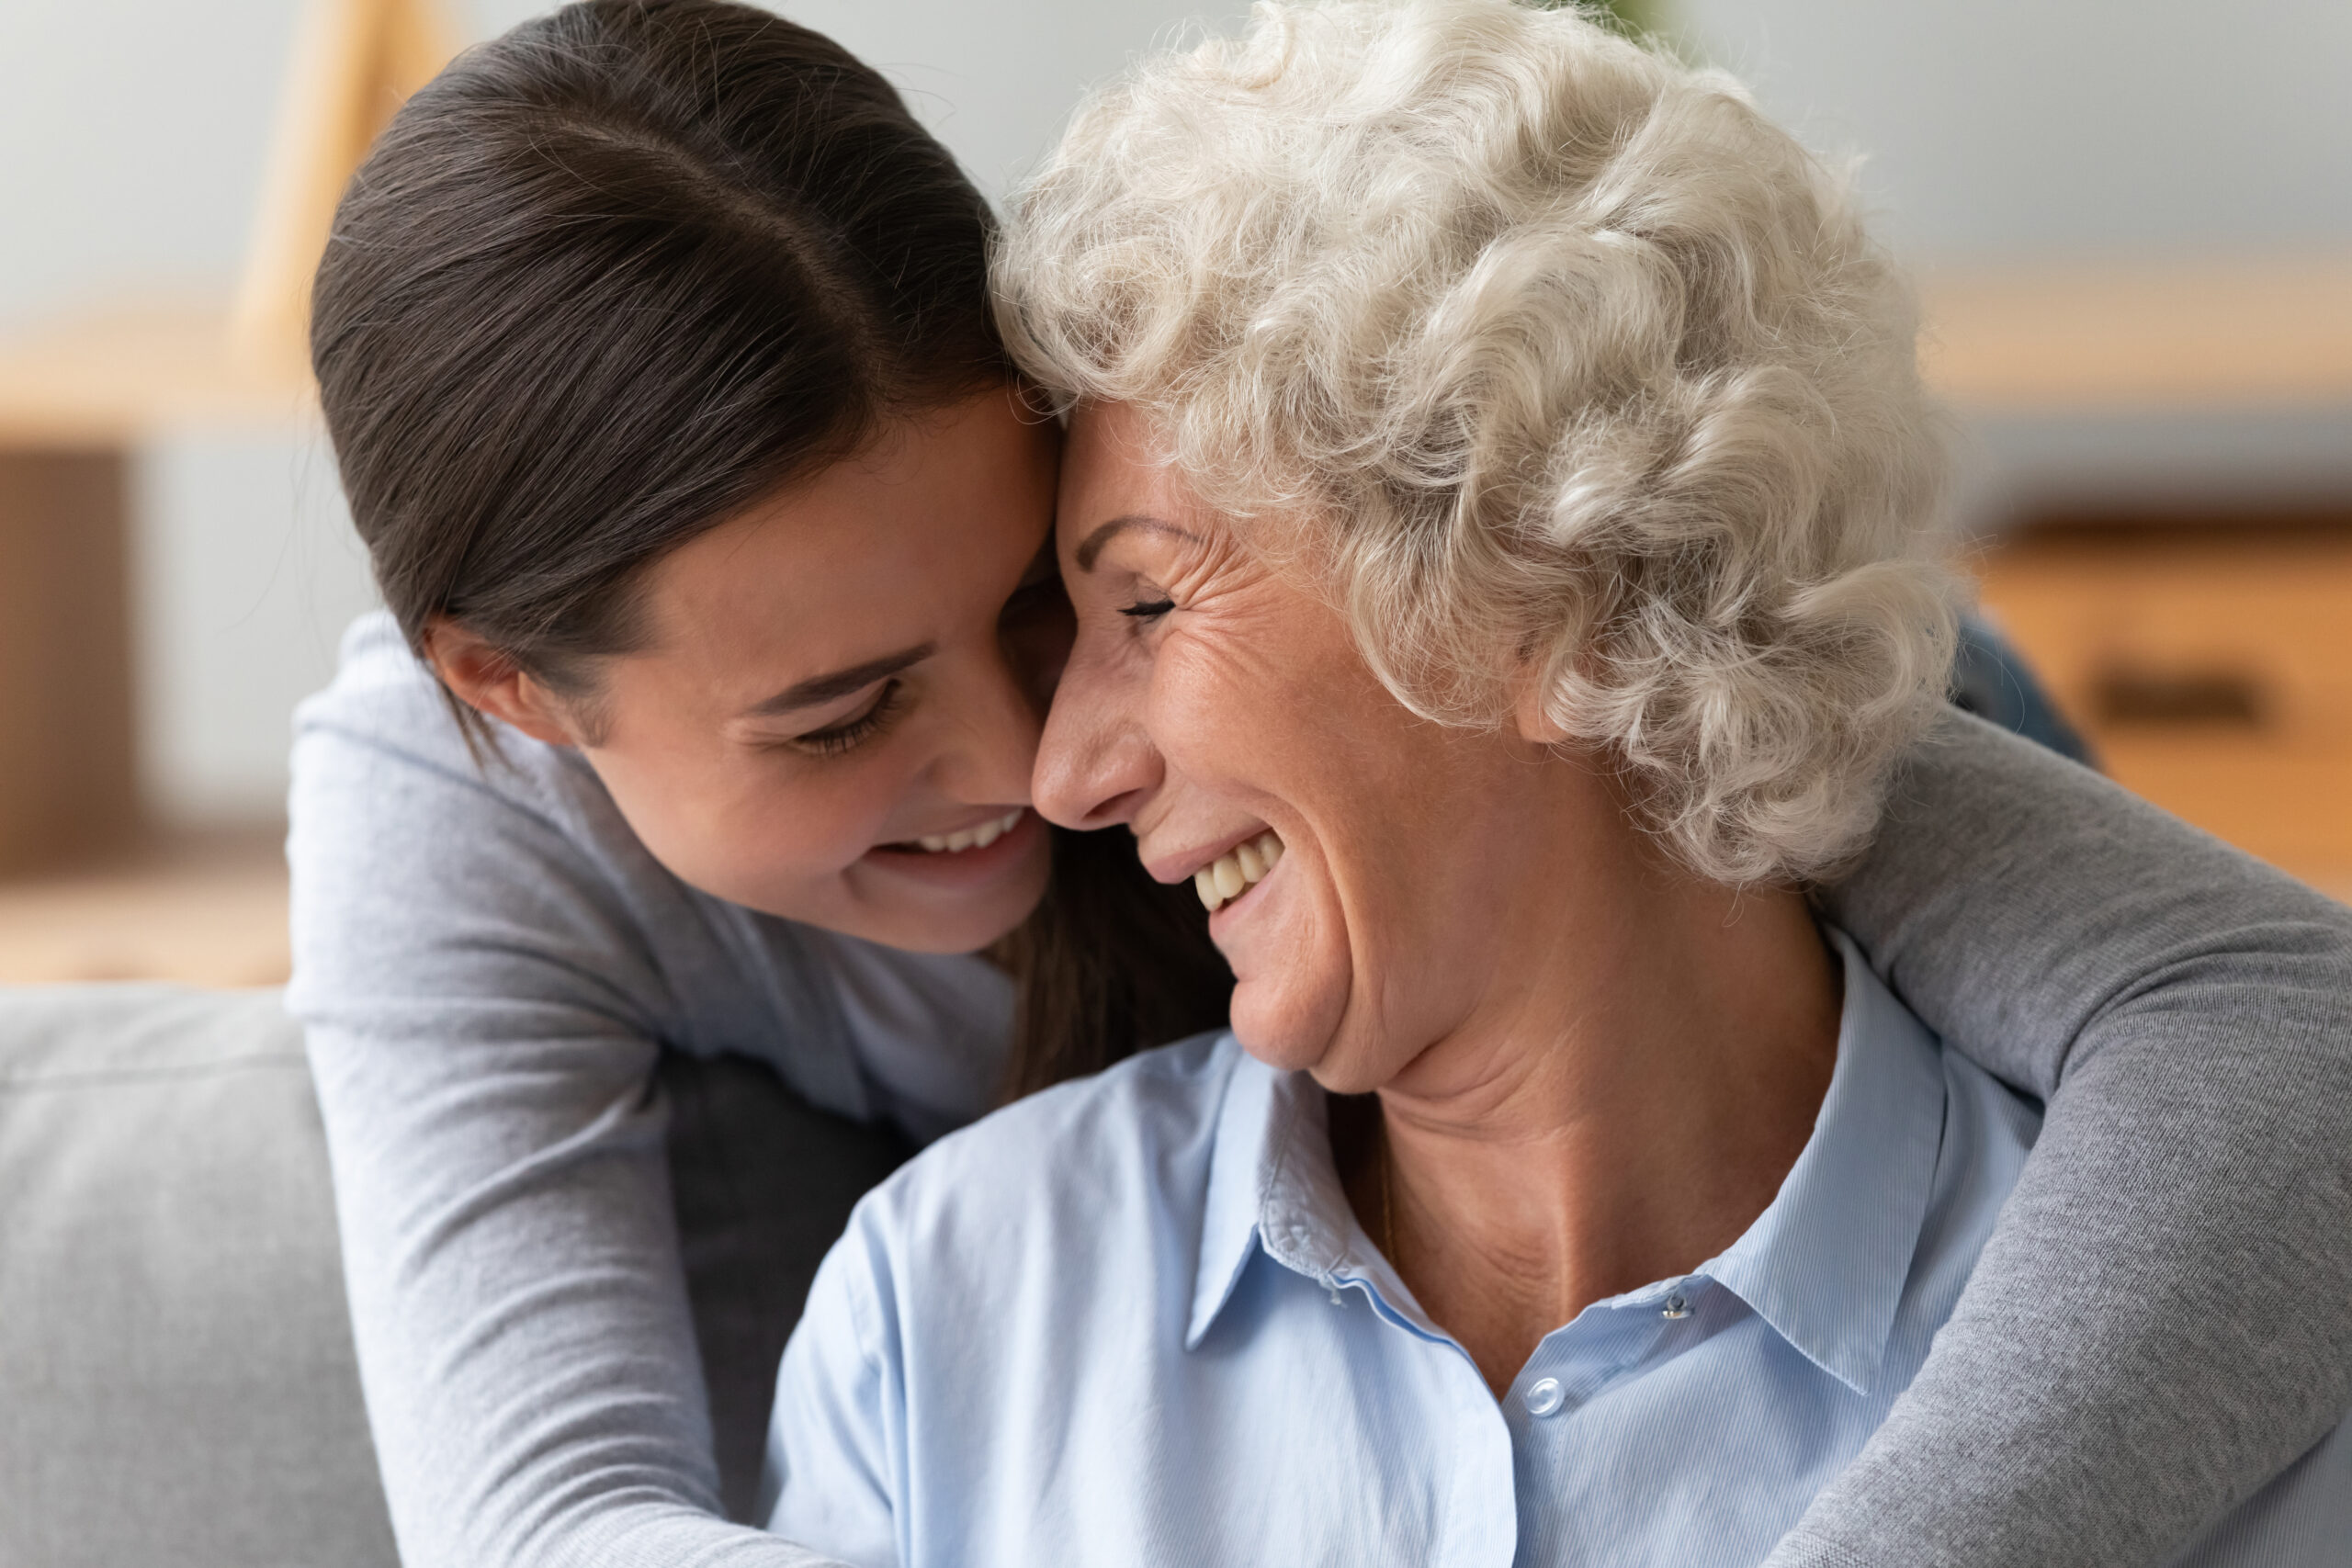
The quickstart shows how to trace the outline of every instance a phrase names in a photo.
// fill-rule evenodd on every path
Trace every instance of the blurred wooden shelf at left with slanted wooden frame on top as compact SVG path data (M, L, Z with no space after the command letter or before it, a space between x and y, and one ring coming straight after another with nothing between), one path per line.
M456 47L440 0L306 0L235 299L0 341L0 872L136 844L132 461L188 428L318 418L308 287L336 200Z

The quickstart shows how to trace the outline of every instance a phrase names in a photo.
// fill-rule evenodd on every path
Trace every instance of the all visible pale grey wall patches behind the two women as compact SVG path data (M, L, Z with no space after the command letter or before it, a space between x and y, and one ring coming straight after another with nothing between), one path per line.
M299 0L0 0L0 331L125 292L226 292ZM1693 40L1830 148L1870 150L1884 228L1924 259L2352 242L2345 0L1675 0ZM475 35L541 9L463 0ZM781 0L882 63L1002 190L1077 87L1240 0ZM2265 447L2263 442L2270 442ZM2265 475L2352 454L2352 423L1987 430L2009 475ZM2187 454L2187 456L2183 456ZM2164 468L2171 463L2171 468ZM2006 468L2004 468L2006 465ZM2300 465L2300 468L2298 468ZM2246 465L2239 463L2239 470ZM2037 480L2042 482L2042 480ZM2107 482L2107 480L2098 480ZM2166 480L2171 482L2171 480ZM367 602L332 463L183 440L141 465L141 665L167 816L270 811L285 715Z

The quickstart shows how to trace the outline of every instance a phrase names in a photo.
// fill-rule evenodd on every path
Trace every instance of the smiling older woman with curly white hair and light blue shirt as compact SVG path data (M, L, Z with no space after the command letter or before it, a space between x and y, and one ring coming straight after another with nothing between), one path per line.
M1263 5L1016 209L1070 407L1061 823L1232 1034L955 1135L786 1354L851 1563L1755 1563L2039 1131L1802 886L1950 656L1912 315L1738 89L1505 0ZM2331 1563L2352 1441L2197 1563Z

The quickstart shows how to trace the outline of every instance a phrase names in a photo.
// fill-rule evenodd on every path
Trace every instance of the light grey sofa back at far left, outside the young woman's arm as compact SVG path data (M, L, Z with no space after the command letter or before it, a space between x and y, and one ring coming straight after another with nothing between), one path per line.
M395 1563L275 992L0 992L0 1563Z

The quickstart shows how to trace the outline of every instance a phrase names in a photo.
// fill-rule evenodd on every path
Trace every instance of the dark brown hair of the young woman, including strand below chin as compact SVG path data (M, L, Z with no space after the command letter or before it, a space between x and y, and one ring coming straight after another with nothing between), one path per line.
M1011 378L988 237L889 82L767 12L586 0L468 49L360 167L313 289L343 489L409 644L447 616L593 698L654 559ZM1007 943L1021 1091L1223 1020L1197 900L1115 839L1056 832Z

